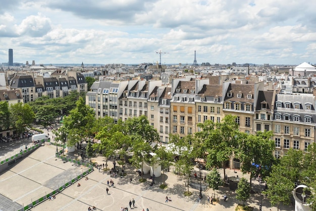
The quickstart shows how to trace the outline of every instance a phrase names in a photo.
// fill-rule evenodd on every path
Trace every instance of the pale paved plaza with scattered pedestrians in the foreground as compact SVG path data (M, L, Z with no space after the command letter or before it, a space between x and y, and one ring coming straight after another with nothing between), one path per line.
M24 140L27 142L28 140ZM29 140L30 142L30 140ZM29 143L31 144L31 143ZM19 147L25 145L24 142L17 143L17 150ZM2 148L0 150L1 156L4 156L3 150L9 148ZM59 185L69 181L76 175L81 174L86 170L86 167L77 166L70 162L63 163L62 160L55 157L56 146L45 145L36 149L28 157L11 169L3 172L0 175L0 194L9 198L17 204L29 204L31 200L36 200L45 193L58 188ZM7 152L8 153L8 152ZM14 150L11 152L14 153ZM93 158L98 164L105 163L103 157ZM109 168L112 168L112 161L108 162ZM81 179L80 187L77 183L70 185L61 193L56 195L54 200L45 200L36 205L30 210L87 210L88 207L95 206L97 210L121 210L122 206L129 207L129 200L134 198L135 207L129 210L235 210L238 201L235 199L234 191L229 190L228 187L221 187L217 191L207 189L202 192L203 198L197 202L199 191L190 188L193 192L192 196L185 197L183 192L187 190L185 187L186 180L177 176L172 172L165 172L165 181L168 188L161 189L159 186L162 184L163 176L155 178L156 184L150 186L151 180L149 175L144 175L147 181L140 183L138 180L141 178L136 173L135 169L127 165L127 176L120 178L112 178L109 172L98 171L95 169L92 173L88 174L88 180ZM223 176L223 169L219 170ZM196 169L198 173L198 169ZM202 174L207 174L202 170ZM237 171L226 170L228 177L239 176L242 174ZM245 175L249 179L248 175ZM130 179L132 178L132 182ZM107 181L113 179L114 186L108 187ZM109 188L109 194L106 189ZM259 190L257 181L253 181L254 189ZM220 200L214 205L207 202L206 196L211 196L212 193L218 194ZM224 193L228 196L227 202L224 202ZM0 196L1 196L0 195ZM166 196L171 197L172 201L165 202ZM0 197L1 200L1 197ZM258 210L260 194L251 194L248 205L254 206L254 210ZM271 207L266 197L261 196L262 210L277 210L276 207ZM281 210L294 210L293 206L281 206ZM1 205L0 205L1 210ZM16 209L3 209L3 210L16 210Z

